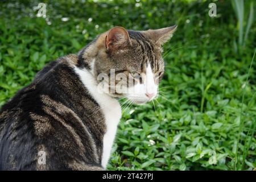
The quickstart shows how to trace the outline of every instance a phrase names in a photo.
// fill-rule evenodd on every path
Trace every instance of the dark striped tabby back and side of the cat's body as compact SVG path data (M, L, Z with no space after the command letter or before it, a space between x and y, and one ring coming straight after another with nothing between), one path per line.
M100 163L102 151L95 143L101 139L89 130L93 120L103 119L101 113L89 117L98 105L73 71L76 63L76 55L53 61L3 105L0 169L82 169L85 162ZM95 133L104 133L104 127L98 128ZM47 164L40 166L42 151Z

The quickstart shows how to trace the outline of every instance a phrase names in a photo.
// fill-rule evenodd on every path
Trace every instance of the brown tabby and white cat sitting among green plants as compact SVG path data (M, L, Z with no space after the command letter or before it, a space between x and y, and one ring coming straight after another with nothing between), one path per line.
M122 115L117 98L134 104L156 98L162 46L176 27L114 27L77 55L46 65L2 106L0 169L105 170ZM125 92L115 90L116 78L98 79L113 69L133 81L119 80Z

